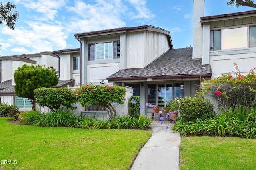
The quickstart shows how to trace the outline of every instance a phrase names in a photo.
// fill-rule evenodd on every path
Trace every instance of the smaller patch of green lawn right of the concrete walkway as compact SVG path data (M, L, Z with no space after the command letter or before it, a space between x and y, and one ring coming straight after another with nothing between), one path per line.
M256 140L238 137L182 137L181 170L254 170Z

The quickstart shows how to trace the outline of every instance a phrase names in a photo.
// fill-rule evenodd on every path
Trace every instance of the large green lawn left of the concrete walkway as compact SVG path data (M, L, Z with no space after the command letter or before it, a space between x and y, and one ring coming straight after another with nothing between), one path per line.
M9 118L10 119L10 118ZM38 127L0 118L3 170L128 170L152 131Z

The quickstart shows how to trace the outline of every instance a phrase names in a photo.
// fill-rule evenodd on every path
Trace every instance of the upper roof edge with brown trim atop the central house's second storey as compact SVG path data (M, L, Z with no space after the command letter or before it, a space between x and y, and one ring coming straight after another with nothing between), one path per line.
M114 28L114 29L105 29L100 31L91 31L91 32L84 32L84 33L76 33L74 36L76 39L78 38L86 38L86 37L93 37L99 35L109 35L109 34L117 34L117 33L128 33L128 32L135 32L135 31L154 31L166 34L168 36L168 41L170 44L170 49L173 49L172 39L169 31L166 31L159 27L154 27L152 25L142 25L138 27L121 27L121 28Z

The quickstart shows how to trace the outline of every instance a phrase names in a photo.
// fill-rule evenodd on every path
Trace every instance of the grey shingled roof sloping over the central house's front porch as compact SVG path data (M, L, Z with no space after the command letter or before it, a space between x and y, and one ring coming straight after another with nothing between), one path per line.
M107 80L211 76L212 69L203 67L202 59L192 59L192 51L193 48L171 49L145 68L119 70Z

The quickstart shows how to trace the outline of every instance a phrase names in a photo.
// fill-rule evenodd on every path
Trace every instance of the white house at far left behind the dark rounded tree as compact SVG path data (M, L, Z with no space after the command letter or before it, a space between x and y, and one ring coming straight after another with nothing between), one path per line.
M15 94L13 77L15 70L23 64L39 64L45 65L46 67L52 66L56 69L56 73L59 74L59 61L58 56L50 52L0 57L0 101L6 104L18 106L20 111L31 109L32 104L30 100L20 98ZM59 80L56 87L66 87L67 85L73 86L74 80Z

